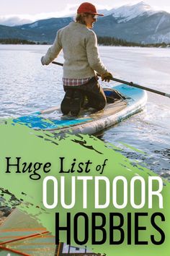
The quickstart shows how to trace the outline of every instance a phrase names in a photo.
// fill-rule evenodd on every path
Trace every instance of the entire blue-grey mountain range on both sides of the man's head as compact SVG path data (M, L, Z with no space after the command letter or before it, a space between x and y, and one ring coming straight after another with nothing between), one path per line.
M99 36L122 38L137 43L170 43L169 12L154 10L143 1L100 12L104 13L104 17L98 17L94 24L94 32ZM57 31L71 21L73 17L60 17L13 27L0 25L0 38L53 43Z

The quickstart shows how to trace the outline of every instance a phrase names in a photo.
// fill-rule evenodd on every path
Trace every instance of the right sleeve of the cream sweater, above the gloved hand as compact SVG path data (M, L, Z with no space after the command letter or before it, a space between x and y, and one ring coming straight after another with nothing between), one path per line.
M89 61L89 65L92 69L99 74L107 72L106 67L102 63L97 48L97 36L93 31L90 31L89 38L86 40L86 54Z

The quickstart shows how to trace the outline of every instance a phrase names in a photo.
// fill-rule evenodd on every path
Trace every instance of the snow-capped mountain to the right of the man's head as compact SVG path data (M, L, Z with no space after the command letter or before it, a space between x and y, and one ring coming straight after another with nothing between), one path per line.
M105 27L101 30L100 27ZM110 10L94 28L99 35L142 43L170 42L170 13L158 11L141 1Z

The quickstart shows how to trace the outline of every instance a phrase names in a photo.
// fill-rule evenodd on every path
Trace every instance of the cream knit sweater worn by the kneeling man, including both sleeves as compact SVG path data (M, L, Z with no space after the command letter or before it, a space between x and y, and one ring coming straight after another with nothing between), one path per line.
M71 22L58 30L57 36L45 56L42 64L50 64L63 49L63 77L86 78L107 72L99 58L97 36L86 25Z

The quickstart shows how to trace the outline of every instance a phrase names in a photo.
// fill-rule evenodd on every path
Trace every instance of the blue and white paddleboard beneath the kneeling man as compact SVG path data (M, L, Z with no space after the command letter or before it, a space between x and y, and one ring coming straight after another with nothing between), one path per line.
M145 90L133 88L128 85L117 85L117 90L122 98L116 99L114 103L107 103L102 111L92 108L81 110L79 116L63 116L60 107L48 108L27 116L21 116L13 121L27 125L32 129L42 129L55 132L58 135L72 134L95 134L122 119L140 111L147 101Z

